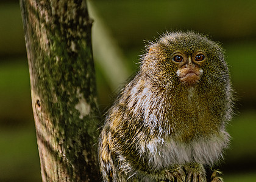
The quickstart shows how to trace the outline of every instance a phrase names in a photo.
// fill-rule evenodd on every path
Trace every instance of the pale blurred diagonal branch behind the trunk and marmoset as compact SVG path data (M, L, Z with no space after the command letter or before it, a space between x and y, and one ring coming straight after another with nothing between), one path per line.
M88 1L88 10L94 20L92 34L94 60L111 89L116 90L130 75L129 67L125 64L127 60L91 1Z

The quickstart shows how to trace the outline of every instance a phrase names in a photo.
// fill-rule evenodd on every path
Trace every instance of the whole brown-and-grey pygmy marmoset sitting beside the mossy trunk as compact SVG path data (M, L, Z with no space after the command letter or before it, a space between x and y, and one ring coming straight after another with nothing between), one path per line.
M137 75L107 112L99 138L104 181L207 181L205 167L230 138L224 59L218 43L190 31L149 43Z

